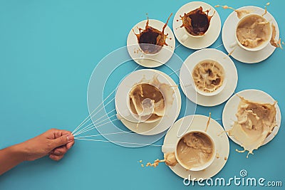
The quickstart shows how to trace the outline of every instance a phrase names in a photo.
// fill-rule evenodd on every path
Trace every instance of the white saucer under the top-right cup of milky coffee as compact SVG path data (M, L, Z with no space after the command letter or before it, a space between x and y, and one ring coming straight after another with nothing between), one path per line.
M264 9L261 9L257 6L244 6L237 10L252 10L252 14L264 14ZM274 17L267 12L264 15L264 18L268 21L272 21L276 27L276 38L279 39L279 28L278 24L275 21ZM224 43L224 48L227 50L228 53L232 52L235 47L231 47L232 44L235 42L235 28L239 21L236 12L232 12L227 17L227 20L224 21L224 26L222 29L222 41ZM236 60L239 60L243 63L259 63L262 60L265 60L274 52L276 48L271 46L269 43L264 49L261 51L246 51L243 48L236 46L234 52L232 53L232 57Z

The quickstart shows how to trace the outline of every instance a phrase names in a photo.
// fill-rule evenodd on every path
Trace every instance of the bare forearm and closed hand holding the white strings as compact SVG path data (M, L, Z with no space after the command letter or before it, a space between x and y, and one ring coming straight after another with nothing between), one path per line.
M74 144L74 137L66 130L51 129L43 134L0 150L0 175L24 161L48 156L55 161L64 157Z

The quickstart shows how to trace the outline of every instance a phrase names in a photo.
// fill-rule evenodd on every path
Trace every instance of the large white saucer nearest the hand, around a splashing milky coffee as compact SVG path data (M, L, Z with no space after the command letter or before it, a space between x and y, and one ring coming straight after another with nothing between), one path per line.
M128 115L130 115L127 102L127 97L130 89L134 85L140 83L142 81L142 78L144 78L145 80L151 80L155 76L157 76L157 80L159 80L160 83L166 83L172 86L176 85L176 83L172 80L172 78L170 78L170 76L166 75L165 73L162 73L159 70L142 69L130 73L130 75L126 76L118 86L117 92L115 94L116 111L120 115L122 115L121 117L123 117L120 121L123 122L123 125L125 125L125 127L128 127L129 130L132 130L133 132L136 132L138 134L153 135L164 132L175 122L175 120L177 120L177 117L180 113L180 91L177 87L173 87L172 105L170 107L165 107L165 116L162 117L161 120L150 123L141 122L139 125L137 125L137 122L131 122L130 120L125 119L126 117L128 117Z

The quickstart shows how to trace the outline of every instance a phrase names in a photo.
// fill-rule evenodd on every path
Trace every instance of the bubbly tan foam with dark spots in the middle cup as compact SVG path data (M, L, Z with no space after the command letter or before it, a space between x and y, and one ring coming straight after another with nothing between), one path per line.
M224 83L224 68L215 60L202 60L192 71L192 78L198 90L212 93Z

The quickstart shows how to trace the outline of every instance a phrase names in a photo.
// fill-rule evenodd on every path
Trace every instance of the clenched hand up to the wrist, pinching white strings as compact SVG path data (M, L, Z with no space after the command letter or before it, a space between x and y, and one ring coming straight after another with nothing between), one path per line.
M27 161L39 159L46 155L58 161L63 158L68 149L71 149L73 144L74 137L71 132L51 129L33 139L22 142L19 146L24 151L24 159Z

